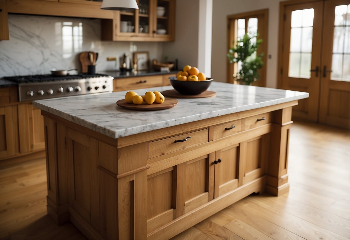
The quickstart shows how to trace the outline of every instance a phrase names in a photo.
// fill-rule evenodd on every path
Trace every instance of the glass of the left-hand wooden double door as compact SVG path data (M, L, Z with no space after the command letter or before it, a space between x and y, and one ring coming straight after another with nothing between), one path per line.
M310 78L314 9L292 11L288 77Z

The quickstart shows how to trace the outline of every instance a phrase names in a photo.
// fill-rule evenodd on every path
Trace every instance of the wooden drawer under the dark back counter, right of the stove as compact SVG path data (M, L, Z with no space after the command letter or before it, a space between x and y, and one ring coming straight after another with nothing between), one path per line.
M142 89L147 87L159 87L163 85L162 76L145 76L136 78L123 78L113 80L113 91L124 91L133 89ZM144 93L139 93L144 95Z

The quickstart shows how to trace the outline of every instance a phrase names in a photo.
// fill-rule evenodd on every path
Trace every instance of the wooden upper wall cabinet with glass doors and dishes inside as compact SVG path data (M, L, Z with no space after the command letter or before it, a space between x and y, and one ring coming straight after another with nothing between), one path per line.
M102 20L102 40L174 41L175 0L137 0L139 9Z

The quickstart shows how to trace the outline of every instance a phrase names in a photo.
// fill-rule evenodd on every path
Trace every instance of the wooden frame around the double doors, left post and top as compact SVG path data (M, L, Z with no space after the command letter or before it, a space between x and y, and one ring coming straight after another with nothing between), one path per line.
M324 0L288 0L280 2L280 8L279 8L279 23L278 23L278 55L277 55L277 88L282 89L282 69L283 69L283 40L285 36L285 29L284 29L284 19L285 19L285 12L286 7L289 5L296 5L301 3L309 3L309 2L321 2Z

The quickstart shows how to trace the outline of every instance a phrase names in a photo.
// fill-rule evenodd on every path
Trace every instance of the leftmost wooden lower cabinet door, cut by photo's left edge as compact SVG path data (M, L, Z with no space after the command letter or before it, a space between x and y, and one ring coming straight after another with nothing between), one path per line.
M16 153L16 106L0 107L0 158Z

